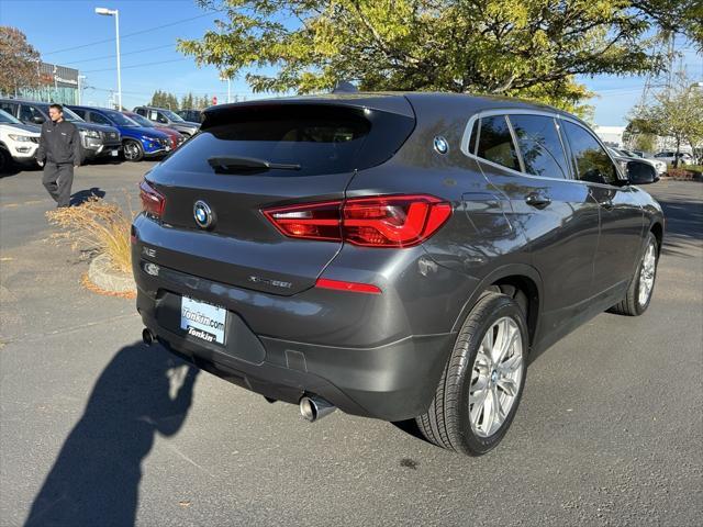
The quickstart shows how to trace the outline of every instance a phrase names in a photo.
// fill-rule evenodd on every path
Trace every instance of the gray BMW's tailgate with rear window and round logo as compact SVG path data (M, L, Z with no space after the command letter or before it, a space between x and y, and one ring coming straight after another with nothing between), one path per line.
M196 277L278 294L312 287L342 243L286 237L263 211L342 200L355 170L402 145L414 125L410 105L399 114L359 101L212 112L197 136L147 175L166 205L159 232L147 225L141 238L159 245L157 260ZM252 159L295 168L243 168ZM197 202L212 211L208 229L196 223Z

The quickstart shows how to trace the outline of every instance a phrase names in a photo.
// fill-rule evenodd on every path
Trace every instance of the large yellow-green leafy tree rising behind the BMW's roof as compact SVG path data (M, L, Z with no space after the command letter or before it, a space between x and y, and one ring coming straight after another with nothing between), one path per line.
M197 0L228 20L179 49L256 92L439 90L573 110L577 75L657 71L652 31L698 0ZM291 23L290 21L298 21ZM267 71L274 70L275 74Z

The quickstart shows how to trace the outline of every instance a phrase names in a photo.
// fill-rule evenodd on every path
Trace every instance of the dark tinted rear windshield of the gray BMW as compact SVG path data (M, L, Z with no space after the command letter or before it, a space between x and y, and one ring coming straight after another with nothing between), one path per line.
M370 115L371 113L376 115ZM271 164L299 165L299 170L271 169L267 176L315 176L367 168L388 159L405 141L414 120L398 126L392 114L364 113L336 106L271 106L235 110L231 116L192 137L164 165L172 170L213 172L209 158L255 158ZM370 116L370 119L367 119ZM373 121L376 119L376 121ZM388 130L394 121L394 131ZM371 131L384 134L370 146ZM400 134L399 134L400 132Z

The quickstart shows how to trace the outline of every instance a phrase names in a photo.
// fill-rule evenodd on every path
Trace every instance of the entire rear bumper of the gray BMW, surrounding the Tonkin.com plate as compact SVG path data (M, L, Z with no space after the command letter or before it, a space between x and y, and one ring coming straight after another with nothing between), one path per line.
M349 414L384 421L411 418L429 406L456 333L392 333L398 323L390 318L403 319L406 313L401 306L390 310L379 324L368 304L377 295L311 289L281 296L165 267L150 276L140 250L133 250L133 262L144 325L199 368L267 397L295 404L312 393ZM226 307L224 346L181 329L181 295ZM360 304L366 309L350 310L349 295L352 302L367 302Z

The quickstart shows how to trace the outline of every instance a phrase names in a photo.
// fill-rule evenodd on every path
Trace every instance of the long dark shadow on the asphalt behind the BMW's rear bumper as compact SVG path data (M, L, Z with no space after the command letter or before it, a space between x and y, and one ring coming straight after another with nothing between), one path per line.
M142 460L156 434L172 436L182 426L198 371L161 346L120 349L96 382L25 526L134 525Z

